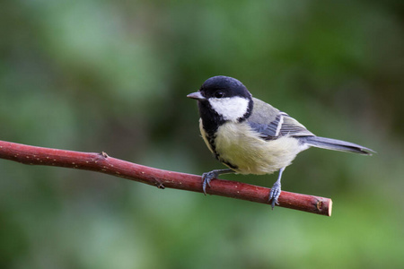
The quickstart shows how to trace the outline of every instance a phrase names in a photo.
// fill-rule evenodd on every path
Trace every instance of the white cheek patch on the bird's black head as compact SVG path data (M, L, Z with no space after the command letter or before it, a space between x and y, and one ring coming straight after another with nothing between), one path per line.
M236 121L247 113L249 100L234 96L230 98L210 98L209 103L224 120Z

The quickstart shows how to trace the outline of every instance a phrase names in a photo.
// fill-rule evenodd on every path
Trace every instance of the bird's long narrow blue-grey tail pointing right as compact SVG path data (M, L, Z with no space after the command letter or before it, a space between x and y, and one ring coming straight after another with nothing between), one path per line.
M340 151L340 152L354 152L364 155L372 155L375 153L373 150L366 148L364 146L358 145L356 143L349 143L342 140L331 139L326 137L320 136L304 136L304 142L310 146L333 150L333 151Z

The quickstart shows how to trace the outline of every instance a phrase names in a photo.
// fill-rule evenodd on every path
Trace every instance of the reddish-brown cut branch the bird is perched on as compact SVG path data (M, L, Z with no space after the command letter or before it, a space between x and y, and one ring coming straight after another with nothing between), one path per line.
M0 159L31 165L92 170L159 188L168 187L202 192L202 179L200 176L154 169L122 161L108 156L105 152L72 152L0 141ZM268 204L270 188L253 186L232 180L215 179L212 180L211 187L208 187L206 192L210 195L221 195ZM326 216L331 215L332 201L329 198L282 191L278 202L281 207Z

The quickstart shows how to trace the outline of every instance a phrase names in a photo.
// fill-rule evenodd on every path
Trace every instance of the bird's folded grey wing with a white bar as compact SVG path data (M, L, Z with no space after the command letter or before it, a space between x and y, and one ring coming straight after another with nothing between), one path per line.
M285 112L281 112L261 100L255 98L253 100L254 108L247 122L263 139L272 140L284 135L314 135Z

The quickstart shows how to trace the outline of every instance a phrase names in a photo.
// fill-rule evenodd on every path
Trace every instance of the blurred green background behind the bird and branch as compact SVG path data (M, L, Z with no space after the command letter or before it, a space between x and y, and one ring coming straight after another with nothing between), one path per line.
M0 267L403 268L401 0L1 1L1 140L223 168L186 98L217 74L378 152L312 149L285 170L332 217L0 160Z

